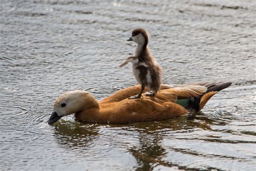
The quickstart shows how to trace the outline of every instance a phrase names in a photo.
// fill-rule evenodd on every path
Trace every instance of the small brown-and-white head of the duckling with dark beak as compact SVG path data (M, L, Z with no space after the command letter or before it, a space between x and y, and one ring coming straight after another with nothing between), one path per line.
M127 41L134 41L140 45L147 45L149 42L149 36L143 28L136 28L132 31L132 37Z

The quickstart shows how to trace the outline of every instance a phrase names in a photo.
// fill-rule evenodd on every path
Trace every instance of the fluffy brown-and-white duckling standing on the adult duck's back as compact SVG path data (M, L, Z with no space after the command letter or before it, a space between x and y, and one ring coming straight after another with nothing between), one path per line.
M119 67L131 62L133 75L141 85L139 94L129 99L140 98L145 87L150 90L150 92L146 92L146 96L155 96L160 89L162 69L151 55L149 47L147 47L149 43L147 32L143 28L136 28L132 31L132 37L127 41L136 42L137 47L133 56L126 58Z

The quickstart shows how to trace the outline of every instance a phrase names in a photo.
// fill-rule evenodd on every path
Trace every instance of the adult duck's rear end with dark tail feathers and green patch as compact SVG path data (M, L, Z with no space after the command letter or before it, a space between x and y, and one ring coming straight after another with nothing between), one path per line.
M200 86L207 87L206 92L200 97L194 97L190 99L190 106L192 112L198 112L204 108L208 100L220 90L223 90L231 85L231 82L225 83L198 83Z

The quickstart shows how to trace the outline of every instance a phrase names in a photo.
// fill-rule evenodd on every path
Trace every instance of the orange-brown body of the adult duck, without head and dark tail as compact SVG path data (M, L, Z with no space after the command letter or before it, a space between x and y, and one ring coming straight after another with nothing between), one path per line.
M140 87L133 86L117 91L110 97L99 102L98 108L90 108L76 113L79 122L117 123L125 124L147 120L165 120L187 115L183 106L174 102L177 99L200 96L206 88L198 87L190 93L185 89L161 87L157 96L143 96L139 99L127 99L138 94ZM184 92L185 95L184 95Z

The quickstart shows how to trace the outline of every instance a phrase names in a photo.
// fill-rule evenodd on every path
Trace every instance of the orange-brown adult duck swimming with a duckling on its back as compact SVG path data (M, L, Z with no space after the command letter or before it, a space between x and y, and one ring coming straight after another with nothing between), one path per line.
M128 99L140 91L140 86L133 86L119 90L99 102L89 92L68 91L56 99L48 123L53 124L72 113L82 123L127 124L171 119L200 111L214 94L230 85L231 82L162 85L156 96L143 94L142 98Z

